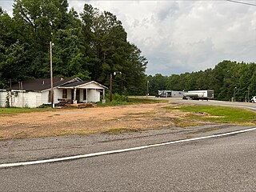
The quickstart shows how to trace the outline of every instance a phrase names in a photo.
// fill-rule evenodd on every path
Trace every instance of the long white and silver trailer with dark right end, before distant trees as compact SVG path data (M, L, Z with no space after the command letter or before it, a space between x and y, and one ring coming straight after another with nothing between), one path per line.
M189 90L183 94L183 99L207 100L214 98L214 90Z

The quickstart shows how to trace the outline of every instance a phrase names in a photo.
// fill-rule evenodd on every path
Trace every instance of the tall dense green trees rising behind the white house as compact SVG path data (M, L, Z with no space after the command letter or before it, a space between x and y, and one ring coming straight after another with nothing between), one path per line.
M78 77L138 94L147 60L127 41L122 22L85 4L68 10L67 0L14 0L13 17L0 7L0 88L10 81L50 77L50 42L56 77ZM11 80L10 80L11 79Z

